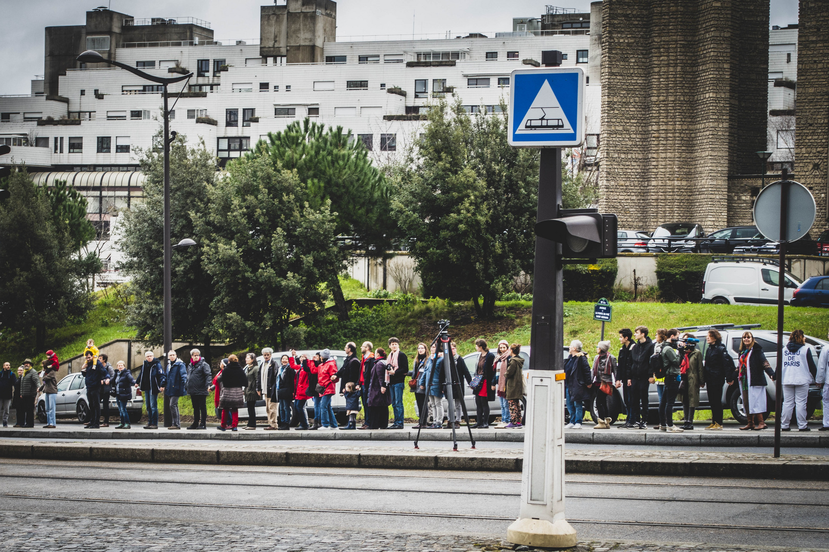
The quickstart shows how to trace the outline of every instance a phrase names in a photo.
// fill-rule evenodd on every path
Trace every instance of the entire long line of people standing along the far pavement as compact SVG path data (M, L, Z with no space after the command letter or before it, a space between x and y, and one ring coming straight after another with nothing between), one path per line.
M766 386L768 379L777 376L768 364L764 350L750 331L742 335L739 358L734 362L722 342L718 330L708 330L705 337L705 361L699 340L690 333L676 329L657 330L655 340L646 326L633 331L623 328L618 332L621 347L618 355L610 352L609 340L600 341L590 362L579 340L570 342L570 355L565 360L565 403L570 422L568 428L580 429L584 410L595 402L598 419L594 429L608 429L615 411L614 388L623 394L626 419L621 429L647 429L651 408L649 390L656 384L659 422L653 429L664 432L682 432L694 429L696 408L700 406L700 390L708 390L711 423L705 429L720 430L723 424L722 389L725 384L738 385L742 394L748 422L741 430L763 430L768 426L764 414L768 412ZM524 359L521 345L501 340L496 351L490 351L486 340L476 340L477 357L467 366L458 354L457 344L450 343L453 355L452 382L447 382L444 352L417 345L411 360L400 350L400 340L388 340L388 349L375 348L370 341L345 345L346 358L337 366L329 349L317 354L297 354L291 350L274 358L274 350L261 350L262 359L255 353L245 354L244 362L235 354L222 359L214 375L210 364L199 349L191 349L190 359L179 359L176 351L167 353L167 367L147 351L144 362L133 377L124 361L115 367L106 354L99 354L93 340L87 342L85 362L81 374L85 380L87 403L90 408L88 428L109 427L109 397L115 398L119 409L116 429L130 428L128 402L133 400L133 388L143 394L148 423L144 429L158 429L158 397L169 400L171 430L181 429L179 399L189 397L193 408L193 422L187 429L206 429L207 398L213 391L216 418L220 431L238 431L239 410L246 408L246 430L255 430L256 404L264 400L265 430L288 430L293 425L299 430L331 431L355 429L401 429L404 424L403 397L408 378L409 392L414 393L419 420L415 427L439 429L444 427L444 397L451 385L454 398L463 398L466 387L475 397L475 424L489 427L490 402L498 398L501 406L502 427L522 427L521 398L525 394ZM3 427L7 427L10 408L17 409L15 427L34 427L35 405L40 393L44 395L46 428L56 427L56 374L60 361L54 351L46 352L38 372L31 359L12 371L6 362L0 371L0 409ZM806 403L809 384L817 382L823 388L823 400L829 403L829 347L822 349L815 364L806 345L802 330L794 330L784 351L783 369L783 431L790 431L793 412L797 413L799 431L809 431L806 422ZM332 408L332 397L342 394L346 403L346 423L339 425ZM683 418L674 424L673 409L681 397ZM308 418L308 401L313 402L313 422ZM309 407L308 407L309 408ZM454 427L464 420L463 401L454 401ZM824 409L821 431L829 431L829 409ZM356 425L362 413L363 423ZM166 413L165 413L166 415ZM467 418L473 413L467 413ZM101 418L104 423L100 423ZM449 427L447 422L445 427Z

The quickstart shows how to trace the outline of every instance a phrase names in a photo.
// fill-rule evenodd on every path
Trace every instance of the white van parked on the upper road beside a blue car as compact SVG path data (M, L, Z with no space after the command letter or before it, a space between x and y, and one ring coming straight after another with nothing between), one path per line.
M702 282L703 303L717 305L777 305L778 261L764 257L720 256L705 267ZM785 276L784 302L801 282L793 275Z

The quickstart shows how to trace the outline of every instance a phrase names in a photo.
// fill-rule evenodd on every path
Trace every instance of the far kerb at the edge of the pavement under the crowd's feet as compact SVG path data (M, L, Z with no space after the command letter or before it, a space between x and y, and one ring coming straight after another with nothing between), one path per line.
M479 431L473 432L480 442L524 442L523 431ZM0 431L0 437L24 439L112 439L113 441L142 440L177 440L177 441L414 441L417 430L375 430L365 432L186 432L186 431L114 431L114 430L46 430L46 429L6 429ZM469 442L469 433L464 430L457 433L458 442ZM452 441L452 433L447 430L429 430L420 432L420 441ZM773 447L773 432L683 432L668 434L653 430L627 430L623 432L606 432L568 430L565 442L592 445L641 445L650 447ZM810 432L783 433L780 436L782 447L829 448L829 434Z

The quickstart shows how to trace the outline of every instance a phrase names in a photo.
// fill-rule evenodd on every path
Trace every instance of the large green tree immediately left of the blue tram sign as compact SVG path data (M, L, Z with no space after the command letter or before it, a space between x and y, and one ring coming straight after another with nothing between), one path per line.
M424 296L471 298L492 316L512 277L531 272L538 152L507 144L506 115L471 118L459 98L429 109L424 130L394 171L394 216L413 240Z

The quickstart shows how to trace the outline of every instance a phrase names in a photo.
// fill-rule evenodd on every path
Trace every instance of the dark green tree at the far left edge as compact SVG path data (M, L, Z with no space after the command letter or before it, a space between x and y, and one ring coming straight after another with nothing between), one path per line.
M34 329L34 349L46 330L83 319L91 308L86 272L94 263L78 259L78 236L65 218L80 203L72 193L41 193L25 167L2 183L11 197L0 203L0 325L22 338ZM61 212L52 212L51 198ZM75 225L77 227L77 225Z

